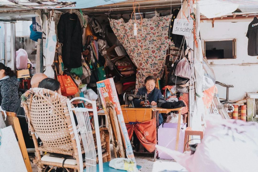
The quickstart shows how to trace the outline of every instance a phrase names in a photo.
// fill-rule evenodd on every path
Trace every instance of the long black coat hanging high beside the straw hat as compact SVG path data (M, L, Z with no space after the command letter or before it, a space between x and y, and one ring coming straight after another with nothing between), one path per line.
M58 40L63 44L62 58L66 68L78 68L82 66L82 27L75 13L62 14L58 25Z

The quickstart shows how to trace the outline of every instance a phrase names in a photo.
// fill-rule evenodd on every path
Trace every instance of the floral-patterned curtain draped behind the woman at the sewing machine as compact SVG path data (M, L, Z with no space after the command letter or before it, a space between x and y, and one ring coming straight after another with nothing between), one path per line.
M136 20L137 27L139 27L137 36L133 34L134 20L125 23L123 19L109 19L117 39L138 68L135 92L138 91L138 88L143 87L147 76L153 75L161 78L163 75L164 59L168 45L171 43L167 36L171 17L172 15L143 19L141 27L139 27L141 20Z

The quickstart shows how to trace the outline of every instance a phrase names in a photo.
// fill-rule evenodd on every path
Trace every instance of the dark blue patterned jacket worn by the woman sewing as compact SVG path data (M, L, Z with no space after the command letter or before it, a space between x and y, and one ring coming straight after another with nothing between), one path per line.
M137 95L145 95L145 94L147 94L147 89L146 89L146 87L139 88ZM147 94L147 96L148 96L148 100L149 100L150 103L151 103L152 101L154 101L154 102L157 103L157 101L158 101L160 98L163 98L163 96L162 96L160 90L157 89L157 88L154 88L149 94ZM139 100L139 99L133 100L134 106L135 106L135 107L139 107L141 101L144 101L144 99L143 99L143 100Z

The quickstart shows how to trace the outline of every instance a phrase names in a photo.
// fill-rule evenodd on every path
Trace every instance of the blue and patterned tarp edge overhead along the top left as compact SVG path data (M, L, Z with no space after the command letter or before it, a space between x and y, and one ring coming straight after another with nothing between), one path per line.
M126 0L1 0L0 5L25 7L25 8L59 8L59 9L81 9L99 5L113 4Z

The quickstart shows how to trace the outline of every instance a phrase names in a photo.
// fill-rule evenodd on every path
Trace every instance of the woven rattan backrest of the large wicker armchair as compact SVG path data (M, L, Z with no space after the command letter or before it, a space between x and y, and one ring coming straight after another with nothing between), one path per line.
M30 132L35 132L43 143L38 150L74 155L67 97L44 88L30 89L25 97Z

